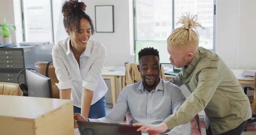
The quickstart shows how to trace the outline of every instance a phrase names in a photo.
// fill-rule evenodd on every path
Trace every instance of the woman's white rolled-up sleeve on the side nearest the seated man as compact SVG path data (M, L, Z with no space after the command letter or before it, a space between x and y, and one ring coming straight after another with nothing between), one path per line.
M92 66L90 67L88 74L85 76L84 80L82 81L82 87L91 91L95 90L98 82L98 77L101 76L102 69L105 64L106 49L103 45L101 45L96 50L93 50L92 54L93 53L96 53L94 55L97 56L97 58L93 62Z

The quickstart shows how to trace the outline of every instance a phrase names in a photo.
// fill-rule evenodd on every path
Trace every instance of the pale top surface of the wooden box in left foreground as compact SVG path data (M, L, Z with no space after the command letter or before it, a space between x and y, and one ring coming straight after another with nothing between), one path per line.
M67 103L72 103L72 101L0 95L0 116L36 119Z

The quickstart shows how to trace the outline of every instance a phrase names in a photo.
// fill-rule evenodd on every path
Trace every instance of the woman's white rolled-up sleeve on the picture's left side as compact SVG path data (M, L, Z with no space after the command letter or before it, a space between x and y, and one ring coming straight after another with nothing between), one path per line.
M56 77L59 80L59 83L56 83L56 85L60 90L70 89L72 88L72 80L70 80L69 72L67 71L66 66L58 53L59 49L62 48L55 45L52 51L53 66L55 68Z

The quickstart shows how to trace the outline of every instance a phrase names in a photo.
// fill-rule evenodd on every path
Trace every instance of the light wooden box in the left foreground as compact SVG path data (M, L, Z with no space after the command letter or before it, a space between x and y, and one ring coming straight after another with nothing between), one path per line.
M72 100L0 95L0 135L74 135Z

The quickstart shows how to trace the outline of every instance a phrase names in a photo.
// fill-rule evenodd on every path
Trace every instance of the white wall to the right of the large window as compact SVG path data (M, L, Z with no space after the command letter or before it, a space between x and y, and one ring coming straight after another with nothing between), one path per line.
M256 70L256 0L217 0L216 53L232 69Z

